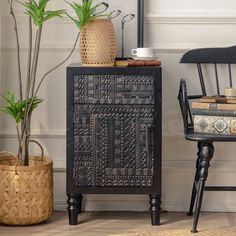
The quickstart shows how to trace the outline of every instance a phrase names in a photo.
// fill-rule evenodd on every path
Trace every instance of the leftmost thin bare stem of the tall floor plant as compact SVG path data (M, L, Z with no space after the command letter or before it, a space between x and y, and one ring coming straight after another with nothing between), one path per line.
M13 21L14 21L14 29L15 29L15 35L16 35L16 44L17 44L17 63L18 63L18 81L19 81L19 94L20 99L23 99L23 89L22 89L22 77L21 77L21 58L20 58L20 40L19 40L19 34L18 34L18 26L16 21L16 16L13 9L13 0L8 0L9 6L10 6L10 14L12 15Z

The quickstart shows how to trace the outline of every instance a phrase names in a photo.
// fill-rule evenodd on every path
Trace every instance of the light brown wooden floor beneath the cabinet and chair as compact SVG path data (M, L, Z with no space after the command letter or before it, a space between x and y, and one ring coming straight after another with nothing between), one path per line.
M46 222L34 226L0 225L1 236L108 236L145 230L191 229L192 218L185 213L163 213L161 226L151 226L148 212L85 212L80 224L69 226L66 212L55 212ZM235 229L236 213L202 213L199 230Z

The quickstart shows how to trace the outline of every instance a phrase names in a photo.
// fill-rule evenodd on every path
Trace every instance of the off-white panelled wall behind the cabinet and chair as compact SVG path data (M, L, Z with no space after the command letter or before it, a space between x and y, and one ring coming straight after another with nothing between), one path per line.
M121 8L133 13L135 1L117 0L112 9ZM122 2L122 4L120 4ZM52 1L55 7L64 7L62 1ZM1 3L2 8L2 3ZM2 8L3 9L3 8ZM7 6L5 6L7 9ZM194 89L196 72L192 66L180 65L182 54L197 47L229 46L236 38L236 2L146 0L145 45L154 47L163 67L163 208L183 211L189 204L192 179L195 171L195 143L184 140L182 122L177 103L179 79L188 78ZM7 10L0 24L2 28L2 77L3 88L16 88L16 50L14 31ZM26 61L27 19L18 9L21 31L22 58ZM119 30L119 20L114 20ZM133 22L135 23L135 22ZM68 19L50 21L44 28L39 75L61 61L72 48L77 29ZM136 42L134 24L127 25L126 55ZM117 32L120 39L120 32ZM118 41L120 45L120 40ZM78 49L68 61L79 62ZM33 134L40 139L48 155L54 160L55 208L66 209L65 158L66 158L66 78L65 66L51 74L44 83L40 96L45 99L34 116ZM14 125L0 116L1 149L16 150ZM217 144L212 162L209 183L236 185L234 145ZM35 150L37 152L37 150ZM206 193L203 209L212 211L236 211L235 193ZM86 210L147 210L148 196L88 195Z

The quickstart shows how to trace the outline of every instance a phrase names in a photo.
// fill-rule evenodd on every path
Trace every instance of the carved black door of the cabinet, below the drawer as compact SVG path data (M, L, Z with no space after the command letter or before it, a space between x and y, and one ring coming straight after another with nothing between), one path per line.
M152 105L74 109L74 186L153 186Z

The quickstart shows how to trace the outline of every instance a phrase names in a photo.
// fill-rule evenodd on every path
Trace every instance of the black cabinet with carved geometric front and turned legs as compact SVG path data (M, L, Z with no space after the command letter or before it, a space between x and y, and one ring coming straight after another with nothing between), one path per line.
M70 224L88 193L149 194L160 224L160 67L67 68Z

